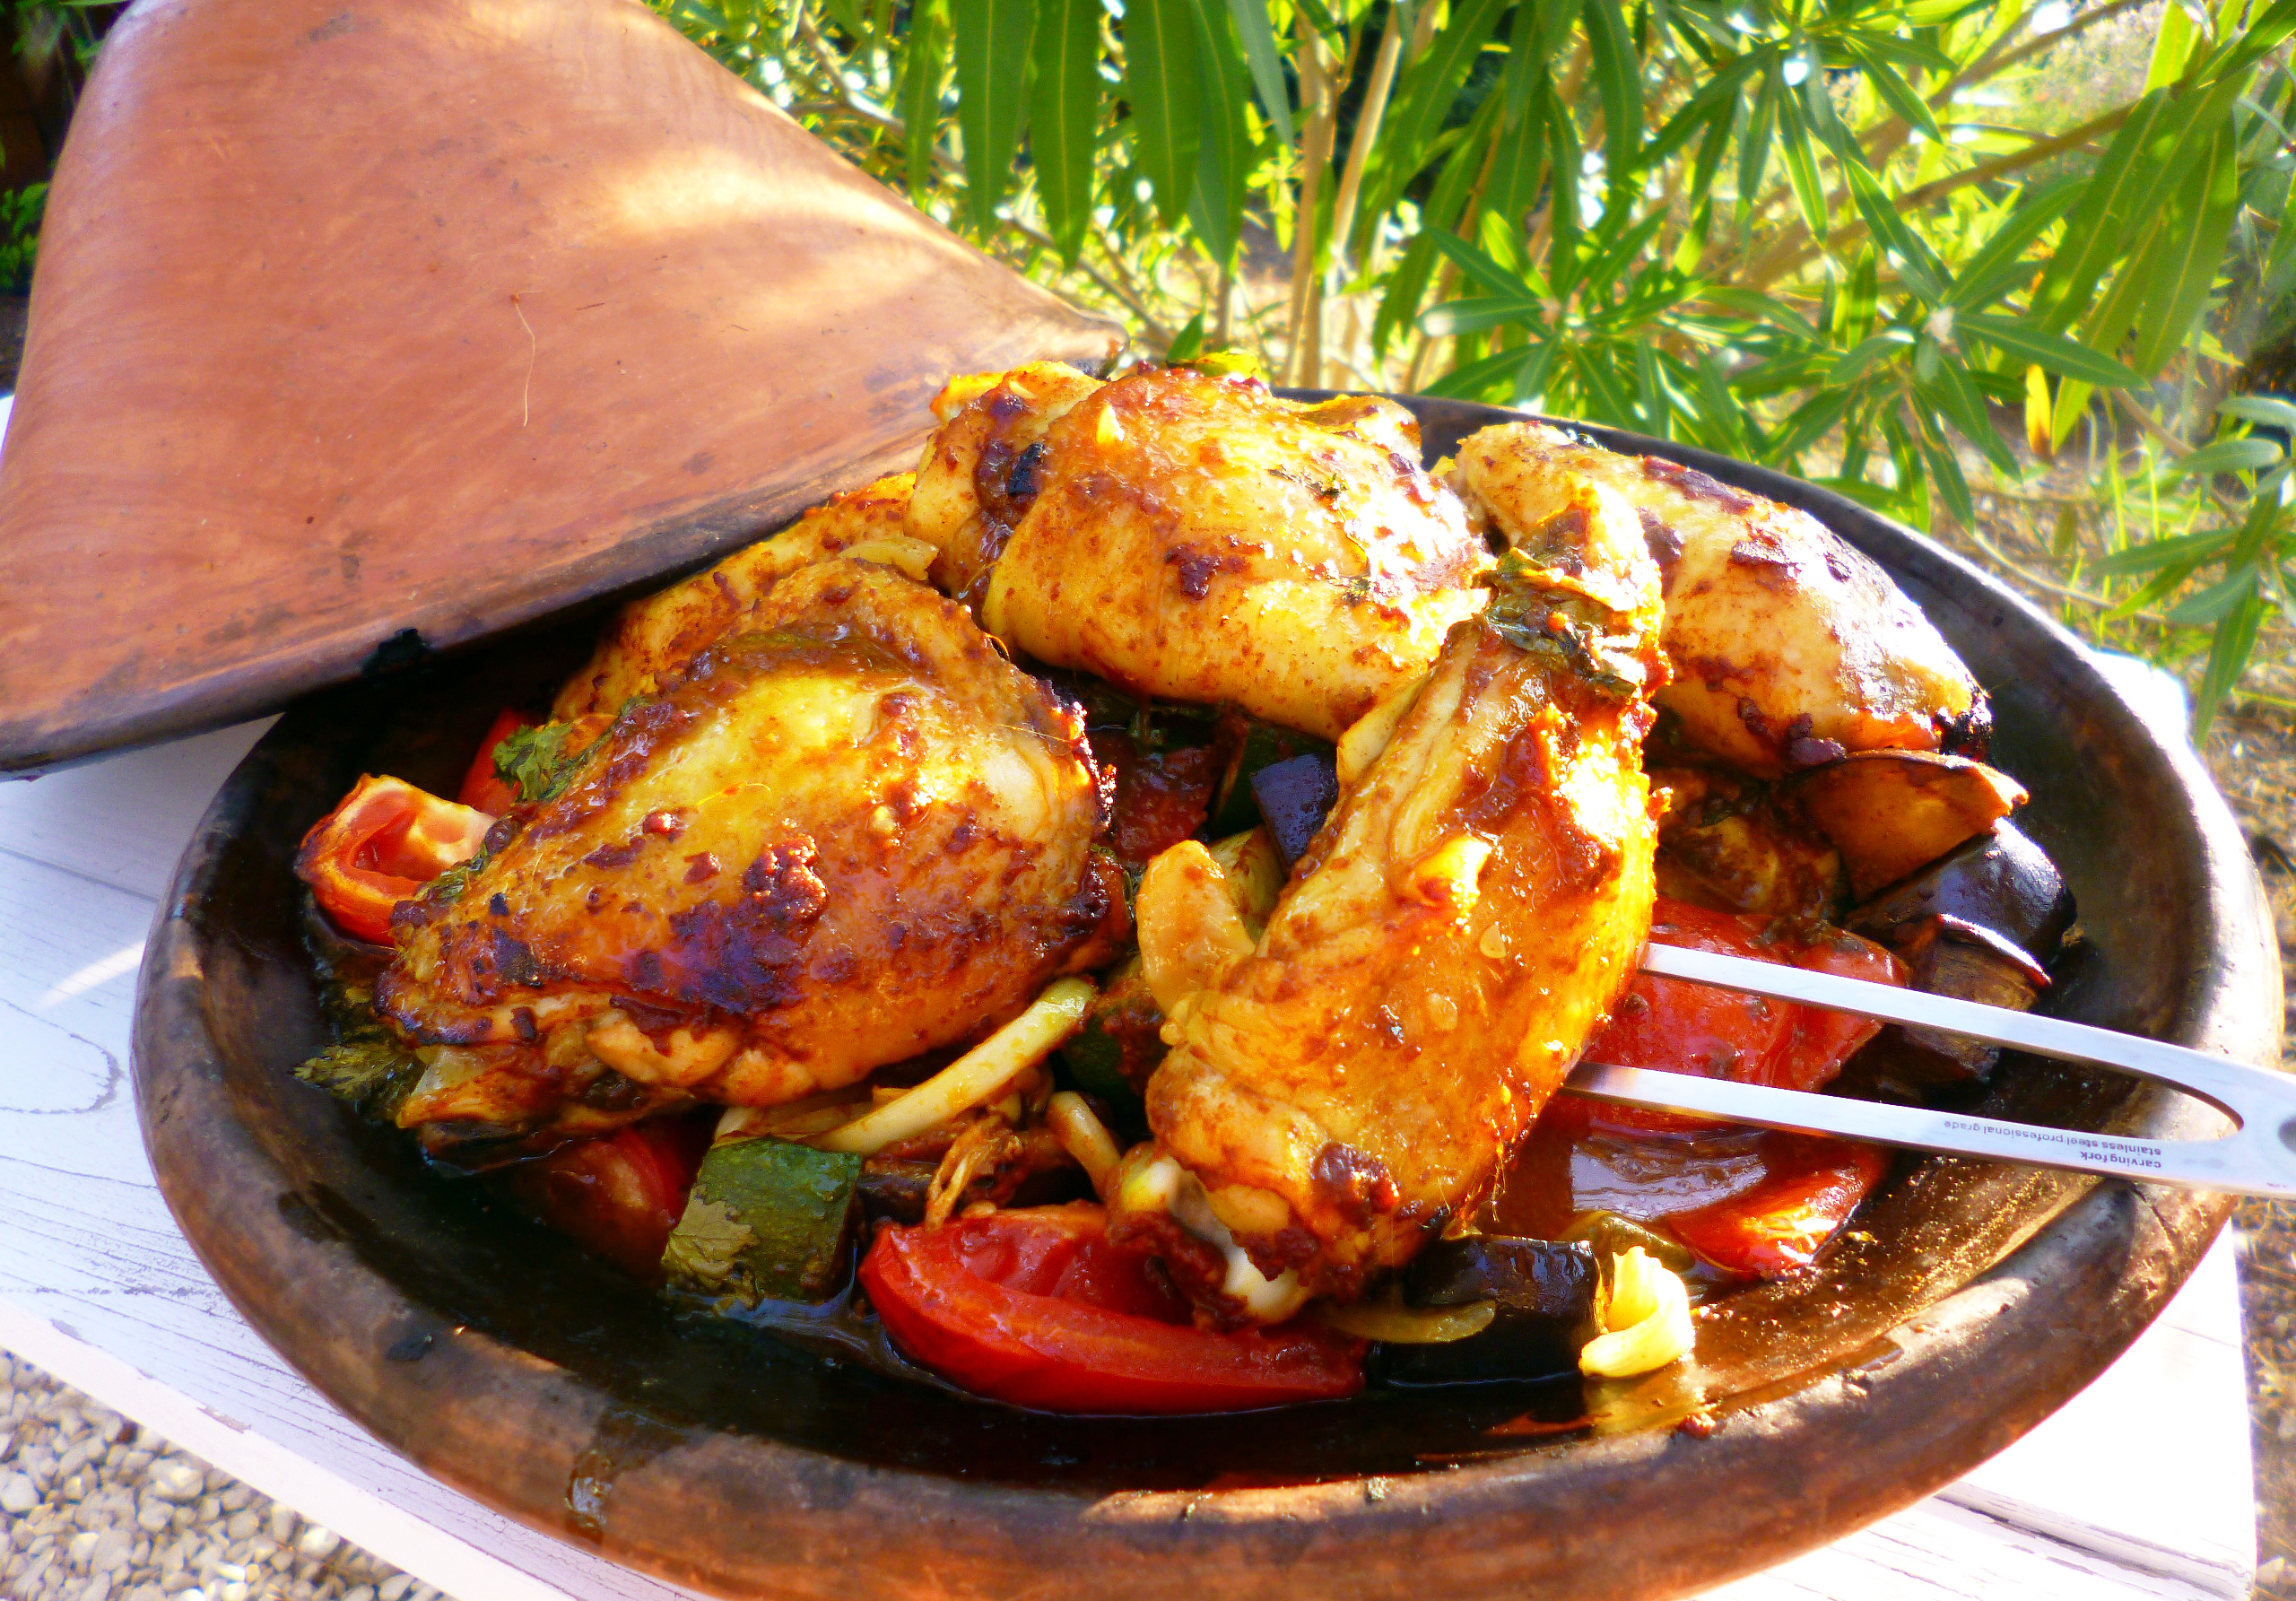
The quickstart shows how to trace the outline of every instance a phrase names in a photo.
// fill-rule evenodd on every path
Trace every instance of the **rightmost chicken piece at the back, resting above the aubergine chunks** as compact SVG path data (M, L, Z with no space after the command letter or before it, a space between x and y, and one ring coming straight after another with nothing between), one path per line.
M1674 685L1658 705L1701 751L1768 779L1846 751L1984 753L1986 698L1961 657L1807 512L1538 423L1463 443L1451 482L1506 540L1580 482L1626 496L1665 581Z

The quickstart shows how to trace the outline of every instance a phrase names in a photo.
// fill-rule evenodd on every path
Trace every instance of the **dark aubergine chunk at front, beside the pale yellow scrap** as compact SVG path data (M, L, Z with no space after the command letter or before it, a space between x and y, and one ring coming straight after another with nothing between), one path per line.
M1603 1275L1593 1247L1476 1233L1437 1240L1405 1270L1414 1307L1492 1302L1490 1328L1437 1346L1380 1346L1373 1374L1389 1385L1479 1385L1508 1378L1561 1378L1600 1330Z

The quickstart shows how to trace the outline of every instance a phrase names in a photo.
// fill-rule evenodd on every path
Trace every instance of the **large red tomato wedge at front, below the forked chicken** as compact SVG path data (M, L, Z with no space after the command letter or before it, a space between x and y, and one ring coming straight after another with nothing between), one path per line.
M1288 1323L1215 1332L1111 1245L1088 1201L889 1227L861 1286L895 1344L946 1378L1054 1413L1228 1413L1364 1387L1364 1341Z

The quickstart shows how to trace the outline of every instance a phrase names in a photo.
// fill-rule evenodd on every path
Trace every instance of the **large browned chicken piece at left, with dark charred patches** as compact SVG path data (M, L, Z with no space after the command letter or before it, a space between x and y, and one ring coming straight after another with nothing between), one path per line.
M377 1011L445 1047L402 1123L597 1103L604 1068L636 1098L774 1105L1109 960L1123 887L1091 850L1081 726L960 606L829 558L744 629L498 822L466 884L400 910Z

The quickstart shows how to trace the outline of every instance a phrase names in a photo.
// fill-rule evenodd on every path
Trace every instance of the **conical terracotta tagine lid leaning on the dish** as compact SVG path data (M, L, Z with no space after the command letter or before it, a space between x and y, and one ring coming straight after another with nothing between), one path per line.
M693 565L1116 340L636 0L142 0L0 453L0 769Z

